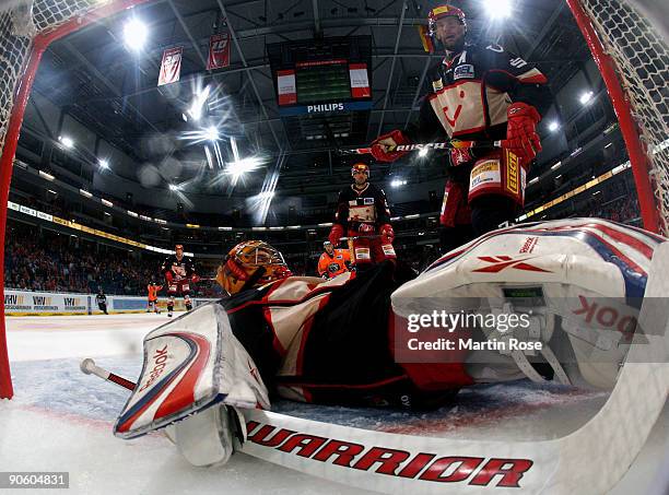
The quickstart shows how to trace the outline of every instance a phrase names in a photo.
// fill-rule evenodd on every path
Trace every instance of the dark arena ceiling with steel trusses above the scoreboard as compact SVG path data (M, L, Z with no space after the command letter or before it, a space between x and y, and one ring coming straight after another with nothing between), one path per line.
M268 170L280 172L278 190L336 190L348 180L349 160L340 148L368 143L383 132L404 128L416 117L427 68L439 59L423 50L418 32L429 10L441 2L418 0L157 0L81 30L44 55L34 91L60 107L101 139L132 157L113 164L121 177L141 180L146 163L176 161L164 182L211 184L220 173L208 163L201 141L184 139L201 128L185 121L195 93L211 90L223 160L230 137L240 154L260 153ZM493 19L488 8L500 1L458 1L466 10L470 40L492 40L535 62L553 93L584 69L589 51L564 0L512 0L510 15ZM148 27L142 50L128 49L124 26L133 16ZM232 36L227 68L206 70L209 38ZM330 37L368 36L372 44L373 106L363 132L334 137L324 131L305 146L308 126L286 122L279 114L268 45ZM178 83L157 86L163 51L183 47ZM601 89L600 89L601 90ZM210 102L210 103L211 103ZM39 107L36 102L36 115ZM212 114L214 111L212 110ZM312 122L313 123L313 122ZM317 122L318 123L318 122ZM322 123L322 122L321 122ZM322 127L322 126L321 126ZM326 123L327 127L327 123ZM548 132L545 126L541 132ZM57 139L52 132L51 139ZM395 165L398 166L398 165ZM375 165L383 174L392 167ZM443 174L426 164L423 177ZM379 177L376 175L376 177ZM245 188L258 191L266 175L249 174Z

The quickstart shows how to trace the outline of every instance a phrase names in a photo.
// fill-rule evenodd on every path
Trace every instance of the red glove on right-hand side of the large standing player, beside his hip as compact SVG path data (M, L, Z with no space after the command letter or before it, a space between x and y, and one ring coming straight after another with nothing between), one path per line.
M506 148L525 162L531 161L541 151L541 141L537 134L537 123L541 116L537 108L520 102L509 106L506 114L508 125L502 148Z

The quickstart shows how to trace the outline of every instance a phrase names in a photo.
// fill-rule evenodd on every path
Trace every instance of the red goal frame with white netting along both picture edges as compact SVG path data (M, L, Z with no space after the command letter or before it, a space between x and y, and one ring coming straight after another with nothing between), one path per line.
M42 52L96 20L151 0L10 0L0 7L0 235L4 238L12 162ZM566 0L615 107L634 172L644 226L667 235L669 54L641 0ZM446 3L446 2L445 2ZM4 244L0 247L4 272ZM0 295L4 295L0 284ZM0 307L0 398L12 397Z

